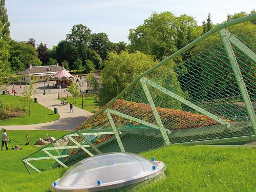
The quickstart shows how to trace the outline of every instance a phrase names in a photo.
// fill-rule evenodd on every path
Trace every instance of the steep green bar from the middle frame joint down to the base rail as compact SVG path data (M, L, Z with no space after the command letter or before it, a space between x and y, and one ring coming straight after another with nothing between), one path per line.
M146 98L148 100L148 104L150 104L150 107L151 107L151 110L153 112L153 115L155 116L155 119L156 119L157 125L159 127L159 130L160 130L160 132L161 132L161 134L163 136L163 140L164 140L166 145L169 145L170 144L169 138L167 136L167 133L166 133L166 130L165 130L164 126L163 126L161 118L160 118L160 116L159 116L159 114L157 112L155 103L154 103L154 101L153 101L153 99L151 97L150 90L148 90L148 88L146 86L146 81L145 80L146 80L146 78L144 78L144 77L142 77L140 79L142 88L143 88L143 90L145 92Z

